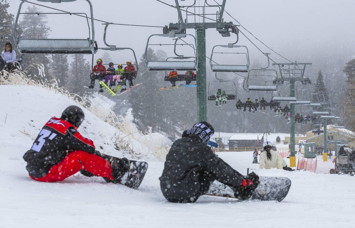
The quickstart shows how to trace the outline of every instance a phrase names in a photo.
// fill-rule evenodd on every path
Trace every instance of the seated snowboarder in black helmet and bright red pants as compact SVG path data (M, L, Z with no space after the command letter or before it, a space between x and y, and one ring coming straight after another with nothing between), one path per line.
M83 111L75 105L67 107L60 118L49 119L31 150L23 155L32 179L43 182L62 181L80 170L89 177L96 175L108 182L120 181L129 169L129 160L114 159L111 163L105 160L105 154L95 151L93 141L77 131L83 120Z

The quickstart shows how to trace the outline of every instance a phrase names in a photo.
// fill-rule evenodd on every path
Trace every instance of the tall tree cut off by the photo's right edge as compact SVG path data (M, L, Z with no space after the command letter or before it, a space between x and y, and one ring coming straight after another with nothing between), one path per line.
M346 63L343 70L348 77L344 86L344 99L342 100L341 116L344 119L346 128L355 132L355 106L354 106L354 88L355 88L355 59Z

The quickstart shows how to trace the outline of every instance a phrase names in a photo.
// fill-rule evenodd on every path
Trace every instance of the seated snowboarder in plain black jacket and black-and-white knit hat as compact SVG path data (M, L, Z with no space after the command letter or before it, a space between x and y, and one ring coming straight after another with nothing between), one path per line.
M160 188L170 202L195 202L208 191L214 180L231 187L239 199L247 199L259 183L259 177L246 177L234 170L208 147L213 135L211 124L201 121L182 133L166 155Z

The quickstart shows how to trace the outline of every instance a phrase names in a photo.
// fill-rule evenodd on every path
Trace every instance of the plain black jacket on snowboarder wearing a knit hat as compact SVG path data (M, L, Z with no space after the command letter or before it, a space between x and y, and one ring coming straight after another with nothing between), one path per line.
M212 180L206 180L206 173ZM176 140L166 155L160 188L166 199L197 200L214 179L235 188L240 188L244 177L198 138L182 137ZM207 186L206 186L207 185ZM207 189L206 189L207 187ZM170 201L169 200L169 201ZM191 200L191 201L195 201Z

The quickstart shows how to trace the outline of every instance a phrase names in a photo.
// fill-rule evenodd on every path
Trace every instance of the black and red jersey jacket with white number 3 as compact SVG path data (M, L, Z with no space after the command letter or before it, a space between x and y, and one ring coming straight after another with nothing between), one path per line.
M44 177L53 165L74 150L95 153L95 146L93 141L81 136L75 126L52 117L39 132L31 149L23 155L28 174L34 178Z

